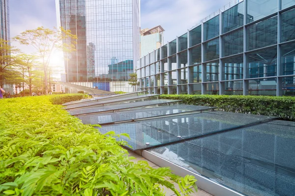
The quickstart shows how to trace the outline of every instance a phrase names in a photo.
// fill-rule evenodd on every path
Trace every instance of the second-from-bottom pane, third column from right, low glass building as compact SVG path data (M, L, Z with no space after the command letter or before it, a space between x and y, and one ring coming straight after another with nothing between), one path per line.
M244 66L243 56L236 56L222 60L223 63L223 80L243 79Z

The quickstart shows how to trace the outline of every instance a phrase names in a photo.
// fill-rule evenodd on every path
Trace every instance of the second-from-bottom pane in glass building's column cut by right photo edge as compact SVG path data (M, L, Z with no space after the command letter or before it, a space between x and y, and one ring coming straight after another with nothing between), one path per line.
M282 75L295 74L295 43L281 46L281 71Z

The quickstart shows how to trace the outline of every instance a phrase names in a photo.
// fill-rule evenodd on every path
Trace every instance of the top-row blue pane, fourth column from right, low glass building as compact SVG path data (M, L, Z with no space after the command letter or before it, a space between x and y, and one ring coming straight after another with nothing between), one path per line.
M204 23L204 41L219 35L219 15Z

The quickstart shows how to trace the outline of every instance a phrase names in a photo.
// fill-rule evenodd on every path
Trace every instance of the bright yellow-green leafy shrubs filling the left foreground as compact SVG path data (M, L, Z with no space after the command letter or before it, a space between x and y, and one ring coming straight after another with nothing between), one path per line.
M100 134L50 102L78 98L83 95L0 100L0 195L164 196L166 186L179 196L173 182L191 193L193 176L130 162L118 135Z

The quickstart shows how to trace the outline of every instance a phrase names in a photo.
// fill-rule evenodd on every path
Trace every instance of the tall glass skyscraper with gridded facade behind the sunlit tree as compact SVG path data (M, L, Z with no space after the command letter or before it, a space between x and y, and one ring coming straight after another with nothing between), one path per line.
M78 37L64 52L66 81L131 92L129 74L139 59L139 0L56 0L58 23ZM64 40L70 43L70 40Z

